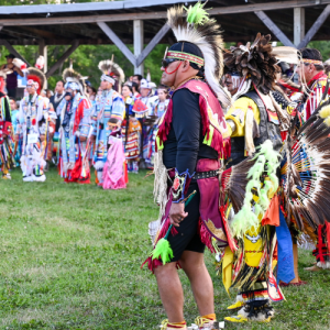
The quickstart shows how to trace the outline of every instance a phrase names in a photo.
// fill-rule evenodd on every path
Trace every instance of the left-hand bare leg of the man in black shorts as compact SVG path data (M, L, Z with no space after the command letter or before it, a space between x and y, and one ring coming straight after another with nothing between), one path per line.
M184 321L184 292L176 263L156 267L155 275L168 321L170 323Z

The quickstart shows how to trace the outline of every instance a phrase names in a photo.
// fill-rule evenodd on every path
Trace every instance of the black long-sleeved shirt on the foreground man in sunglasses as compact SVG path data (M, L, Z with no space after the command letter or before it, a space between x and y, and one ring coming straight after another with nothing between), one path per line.
M198 160L218 160L217 151L202 141L199 95L183 88L173 96L173 120L163 152L166 168L179 173L188 168L193 174Z

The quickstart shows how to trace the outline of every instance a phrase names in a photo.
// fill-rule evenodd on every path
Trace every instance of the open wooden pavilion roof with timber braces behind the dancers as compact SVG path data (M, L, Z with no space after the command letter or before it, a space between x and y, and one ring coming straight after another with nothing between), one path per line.
M0 7L0 45L21 57L13 45L69 45L48 76L81 44L114 44L143 73L143 61L158 43L172 44L166 10L197 0L124 0L109 2ZM301 48L311 40L329 40L330 0L209 0L210 14L223 29L226 42L248 42L271 33L284 45ZM144 47L144 45L146 46ZM127 45L134 45L132 53ZM22 58L24 59L24 58Z

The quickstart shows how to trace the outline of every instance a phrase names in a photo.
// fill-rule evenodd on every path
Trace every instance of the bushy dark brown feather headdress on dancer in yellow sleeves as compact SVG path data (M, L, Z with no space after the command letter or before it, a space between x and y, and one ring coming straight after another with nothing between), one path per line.
M249 42L245 46L231 46L223 55L228 69L251 77L254 86L265 95L273 89L275 74L279 70L270 41L270 34L264 36L257 33L252 44Z

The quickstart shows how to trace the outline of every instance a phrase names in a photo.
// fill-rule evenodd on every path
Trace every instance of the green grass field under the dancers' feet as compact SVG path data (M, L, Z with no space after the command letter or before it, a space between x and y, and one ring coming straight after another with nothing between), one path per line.
M153 178L144 175L131 175L121 191L64 184L54 168L46 183L23 183L19 169L0 182L0 329L158 329L165 315L155 278L140 270L157 217ZM232 300L206 258L221 320ZM312 261L300 251L308 285L284 288L287 301L272 323L226 329L330 329L330 272L305 272ZM198 311L180 274L190 323Z

